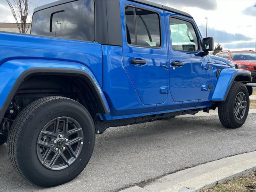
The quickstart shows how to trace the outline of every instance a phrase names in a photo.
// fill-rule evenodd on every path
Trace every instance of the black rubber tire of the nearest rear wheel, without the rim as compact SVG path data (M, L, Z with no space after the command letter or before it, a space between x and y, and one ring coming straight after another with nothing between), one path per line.
M70 166L51 170L39 160L38 137L48 122L66 116L81 125L85 137L83 143L78 144L83 145ZM56 134L59 134L59 126ZM25 179L38 186L52 187L66 183L82 172L92 156L94 143L95 128L88 110L72 99L52 96L32 102L18 114L8 134L8 154L14 169Z

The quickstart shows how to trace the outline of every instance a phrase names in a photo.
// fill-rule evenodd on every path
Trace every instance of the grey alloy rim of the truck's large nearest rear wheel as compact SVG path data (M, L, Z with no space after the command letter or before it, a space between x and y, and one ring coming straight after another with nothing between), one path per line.
M62 170L73 164L83 146L84 134L76 120L58 117L46 124L37 140L37 156L51 170Z

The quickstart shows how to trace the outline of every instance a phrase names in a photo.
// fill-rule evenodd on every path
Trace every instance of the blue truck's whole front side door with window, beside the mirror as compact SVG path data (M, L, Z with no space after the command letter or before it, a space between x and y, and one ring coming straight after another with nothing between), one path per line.
M200 54L200 36L194 20L166 12L166 23L172 98L176 102L203 99L207 87L207 57Z

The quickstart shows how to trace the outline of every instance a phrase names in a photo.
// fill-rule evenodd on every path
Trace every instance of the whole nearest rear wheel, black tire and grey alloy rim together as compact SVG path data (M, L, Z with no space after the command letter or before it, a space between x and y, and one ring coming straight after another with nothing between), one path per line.
M82 172L95 142L89 112L64 97L41 98L26 106L8 134L8 153L14 169L44 187L66 183Z

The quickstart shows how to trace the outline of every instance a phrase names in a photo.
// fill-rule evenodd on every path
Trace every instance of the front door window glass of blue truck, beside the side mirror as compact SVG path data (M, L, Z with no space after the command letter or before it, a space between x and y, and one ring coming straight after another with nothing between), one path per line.
M197 51L198 38L193 25L185 20L170 17L172 48L177 51Z

